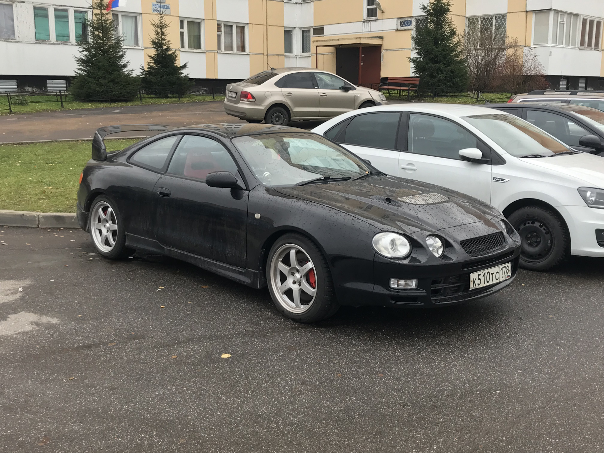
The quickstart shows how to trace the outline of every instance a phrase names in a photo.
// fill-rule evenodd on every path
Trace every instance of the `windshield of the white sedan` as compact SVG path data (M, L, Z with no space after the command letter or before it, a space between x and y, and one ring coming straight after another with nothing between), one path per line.
M471 115L463 119L515 157L571 152L548 133L514 115Z

